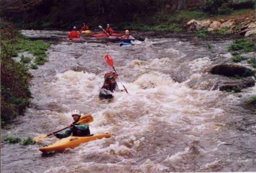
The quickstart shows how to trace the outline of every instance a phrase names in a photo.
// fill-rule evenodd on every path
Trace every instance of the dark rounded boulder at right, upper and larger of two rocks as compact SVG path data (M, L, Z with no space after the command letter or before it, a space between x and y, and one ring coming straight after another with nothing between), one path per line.
M223 75L229 77L241 76L248 77L254 76L254 72L242 65L237 64L214 64L204 69L205 73L209 72L214 75Z

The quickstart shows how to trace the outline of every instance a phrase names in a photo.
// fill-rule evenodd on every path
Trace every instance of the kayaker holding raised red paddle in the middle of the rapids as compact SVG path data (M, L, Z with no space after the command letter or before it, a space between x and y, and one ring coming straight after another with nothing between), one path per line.
M99 97L105 98L105 99L110 99L113 98L113 92L123 92L125 89L119 89L117 82L117 73L115 72L107 72L104 76L104 83L103 86L101 87L101 90L99 92Z

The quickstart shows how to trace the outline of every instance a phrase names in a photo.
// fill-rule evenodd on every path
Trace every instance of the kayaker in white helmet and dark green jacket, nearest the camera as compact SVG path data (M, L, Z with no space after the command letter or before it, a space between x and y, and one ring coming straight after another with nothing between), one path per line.
M80 110L73 110L72 112L72 117L74 119L74 123L78 122L80 117L81 117L81 112ZM62 138L67 138L71 134L76 137L83 137L86 135L90 135L90 129L89 129L89 124L87 123L79 123L77 125L69 125L69 129L59 132L59 133L53 133L57 138L62 139Z

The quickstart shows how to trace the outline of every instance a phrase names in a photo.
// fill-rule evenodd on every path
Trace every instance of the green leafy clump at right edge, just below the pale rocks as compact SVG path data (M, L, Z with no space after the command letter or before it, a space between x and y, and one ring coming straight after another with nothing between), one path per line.
M237 39L229 46L229 51L254 52L255 44L250 40Z

